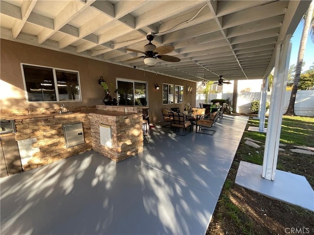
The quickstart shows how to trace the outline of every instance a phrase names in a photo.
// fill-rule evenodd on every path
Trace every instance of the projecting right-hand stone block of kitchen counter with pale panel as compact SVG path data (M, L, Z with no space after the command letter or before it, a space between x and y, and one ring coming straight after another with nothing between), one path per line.
M137 113L137 108L97 106L88 116L94 151L117 162L143 151L142 112ZM109 144L101 141L102 126L111 134Z

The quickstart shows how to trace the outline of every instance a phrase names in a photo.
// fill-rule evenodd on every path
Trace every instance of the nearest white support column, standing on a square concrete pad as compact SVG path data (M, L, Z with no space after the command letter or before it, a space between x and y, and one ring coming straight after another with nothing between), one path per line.
M291 53L291 35L288 35L282 45L276 47L276 61L273 89L271 92L270 109L262 165L262 177L275 180L278 159L279 139L285 102L288 68Z

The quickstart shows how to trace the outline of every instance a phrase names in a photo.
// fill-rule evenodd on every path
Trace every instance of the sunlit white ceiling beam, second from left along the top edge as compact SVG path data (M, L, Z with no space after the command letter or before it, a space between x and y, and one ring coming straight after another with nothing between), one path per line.
M54 29L44 28L38 35L38 44L41 45L55 32L62 28L65 24L74 19L78 14L89 7L95 0L87 0L86 3L82 1L70 1L53 19Z

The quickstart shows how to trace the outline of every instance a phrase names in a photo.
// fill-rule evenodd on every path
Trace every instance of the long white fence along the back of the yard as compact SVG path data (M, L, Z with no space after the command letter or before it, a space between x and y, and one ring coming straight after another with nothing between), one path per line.
M286 112L289 104L291 92L286 92L284 113ZM237 113L251 113L251 103L255 100L260 100L260 92L245 92L238 93L237 95ZM233 93L224 94L209 94L209 101L211 99L233 99ZM267 93L267 101L270 102L270 92ZM196 106L199 107L200 103L205 103L204 94L196 95ZM314 117L314 90L298 91L294 103L294 113L298 116Z

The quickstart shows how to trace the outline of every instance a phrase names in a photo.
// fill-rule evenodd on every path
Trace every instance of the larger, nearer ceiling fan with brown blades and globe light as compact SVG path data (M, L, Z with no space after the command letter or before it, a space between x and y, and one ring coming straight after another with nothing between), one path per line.
M144 46L144 51L126 48L126 50L130 50L130 51L138 52L138 53L143 53L145 55L137 56L137 57L131 58L129 60L125 60L125 61L131 61L131 60L137 60L139 58L144 58L144 64L147 66L156 65L157 58L160 60L168 61L168 62L179 62L179 61L181 61L181 59L179 59L178 57L171 56L171 55L163 55L163 54L167 54L167 53L170 53L171 51L173 51L174 47L172 47L172 46L156 47L154 44L151 43L154 40L153 35L149 34L146 36L146 38L149 41L149 43Z

